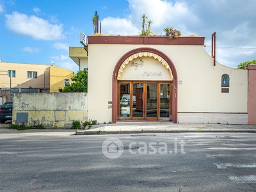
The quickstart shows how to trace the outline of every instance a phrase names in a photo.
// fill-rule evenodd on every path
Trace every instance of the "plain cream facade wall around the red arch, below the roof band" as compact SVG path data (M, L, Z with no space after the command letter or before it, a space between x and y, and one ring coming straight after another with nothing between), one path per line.
M178 81L182 81L182 84L178 84L178 122L189 119L190 123L218 123L218 120L214 120L216 115L225 114L228 118L235 113L243 114L241 124L247 120L247 70L225 67L218 62L214 66L213 59L202 45L146 44L89 44L89 119L98 120L100 123L111 122L112 109L109 108L109 102L112 100L113 70L125 53L140 47L151 47L163 52L175 65ZM230 77L229 93L221 93L223 74Z

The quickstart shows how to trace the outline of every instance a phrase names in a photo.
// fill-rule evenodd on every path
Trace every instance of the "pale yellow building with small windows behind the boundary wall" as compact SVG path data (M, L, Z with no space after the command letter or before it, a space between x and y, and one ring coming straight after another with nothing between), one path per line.
M0 90L12 92L59 92L72 83L74 71L53 65L0 62Z

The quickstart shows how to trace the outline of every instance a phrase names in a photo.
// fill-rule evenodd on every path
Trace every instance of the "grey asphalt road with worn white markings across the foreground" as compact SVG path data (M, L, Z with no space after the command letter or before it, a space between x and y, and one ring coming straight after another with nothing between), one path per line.
M73 133L0 129L0 191L256 191L255 133Z

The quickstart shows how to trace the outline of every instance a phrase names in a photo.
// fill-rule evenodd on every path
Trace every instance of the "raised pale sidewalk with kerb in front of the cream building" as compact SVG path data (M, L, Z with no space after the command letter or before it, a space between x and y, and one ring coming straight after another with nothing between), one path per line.
M172 122L117 122L116 124L93 125L91 129L77 131L77 135L160 132L256 132L256 125L173 124Z

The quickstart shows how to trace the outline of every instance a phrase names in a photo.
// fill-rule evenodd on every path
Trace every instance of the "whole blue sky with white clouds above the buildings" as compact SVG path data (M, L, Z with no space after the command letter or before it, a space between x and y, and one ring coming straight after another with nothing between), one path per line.
M204 36L209 53L216 32L216 60L236 68L256 60L255 8L255 0L0 0L0 60L77 72L68 47L82 46L81 31L93 34L97 11L106 35L138 35L143 13L158 35L173 26L182 35Z

